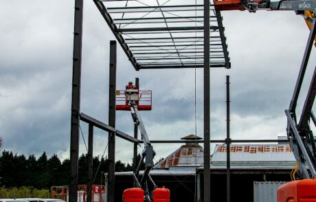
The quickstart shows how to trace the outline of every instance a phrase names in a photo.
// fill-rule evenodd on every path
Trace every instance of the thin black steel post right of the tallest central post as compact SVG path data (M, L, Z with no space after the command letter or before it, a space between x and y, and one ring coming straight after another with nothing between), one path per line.
M226 196L230 202L230 99L229 99L229 75L226 76L226 146L227 146L227 173L226 173Z

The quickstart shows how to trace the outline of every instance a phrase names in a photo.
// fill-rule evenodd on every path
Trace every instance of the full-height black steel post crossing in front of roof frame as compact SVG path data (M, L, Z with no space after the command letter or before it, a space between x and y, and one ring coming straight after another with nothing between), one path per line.
M204 202L210 192L210 0L204 0Z

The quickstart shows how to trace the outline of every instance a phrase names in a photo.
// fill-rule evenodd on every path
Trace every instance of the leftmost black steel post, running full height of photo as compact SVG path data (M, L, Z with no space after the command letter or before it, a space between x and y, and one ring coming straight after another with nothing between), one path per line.
M80 125L80 86L82 54L82 15L83 0L75 1L74 16L74 55L72 66L71 127L70 127L70 162L69 202L78 201L78 153Z

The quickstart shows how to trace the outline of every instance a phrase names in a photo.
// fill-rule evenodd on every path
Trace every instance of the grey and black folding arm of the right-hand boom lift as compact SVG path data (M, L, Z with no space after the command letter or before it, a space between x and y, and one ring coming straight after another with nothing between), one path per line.
M300 89L302 87L302 82L304 79L306 66L308 63L309 55L311 54L311 49L313 47L313 39L316 33L316 20L314 18L313 25L311 27L311 33L308 37L308 43L304 53L304 58L300 68L300 73L297 77L297 82L295 85L295 90L293 92L293 97L289 105L289 110L286 110L286 116L288 119L288 126L286 128L289 142L292 151L299 165L299 173L302 178L316 178L316 147L313 131L311 130L311 120L316 126L316 118L313 114L312 108L316 96L316 68L313 73L313 78L308 89L300 121L297 123L296 118L296 105L297 99L300 94Z

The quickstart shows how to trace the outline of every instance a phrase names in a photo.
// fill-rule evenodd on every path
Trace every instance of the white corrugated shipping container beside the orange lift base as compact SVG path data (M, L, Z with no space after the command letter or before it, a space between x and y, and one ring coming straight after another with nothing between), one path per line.
M277 190L286 181L253 181L253 202L277 202Z

